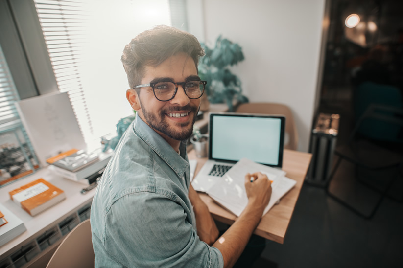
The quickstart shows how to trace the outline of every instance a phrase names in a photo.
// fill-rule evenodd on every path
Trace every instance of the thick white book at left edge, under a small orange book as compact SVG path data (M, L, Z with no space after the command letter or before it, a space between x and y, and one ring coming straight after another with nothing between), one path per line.
M7 221L6 224L0 226L0 246L3 246L13 238L24 233L26 228L24 222L2 204L0 204L0 211Z

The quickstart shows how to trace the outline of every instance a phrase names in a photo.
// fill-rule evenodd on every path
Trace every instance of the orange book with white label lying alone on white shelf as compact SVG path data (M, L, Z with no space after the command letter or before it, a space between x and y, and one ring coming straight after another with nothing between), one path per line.
M31 216L35 216L47 208L66 198L63 190L45 179L37 179L9 192L11 200Z

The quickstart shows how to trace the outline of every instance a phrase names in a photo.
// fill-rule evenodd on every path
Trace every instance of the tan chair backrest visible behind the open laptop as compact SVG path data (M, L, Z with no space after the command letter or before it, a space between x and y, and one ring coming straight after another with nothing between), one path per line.
M298 132L294 117L288 106L280 103L243 103L237 107L236 112L280 114L285 116L284 148L297 150Z

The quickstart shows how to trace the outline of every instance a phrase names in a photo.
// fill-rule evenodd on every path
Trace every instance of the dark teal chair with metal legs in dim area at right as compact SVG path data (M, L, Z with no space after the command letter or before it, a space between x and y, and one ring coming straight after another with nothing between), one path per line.
M371 219L380 203L385 197L395 201L402 201L388 196L388 191L397 178L402 177L403 169L403 105L400 91L397 88L374 83L365 83L358 87L354 106L356 115L359 116L356 126L351 133L348 143L336 148L335 155L338 160L332 170L330 178L325 186L326 193L335 201L338 201L357 215ZM365 109L364 112L362 112ZM364 213L355 206L342 200L329 190L341 161L347 161L355 166L355 179L368 188L378 192L380 197L370 213ZM382 176L390 171L389 178ZM366 174L365 174L366 172ZM378 175L376 175L378 172ZM365 175L366 179L362 177ZM386 181L383 189L369 183L370 178ZM387 181L388 179L388 181Z

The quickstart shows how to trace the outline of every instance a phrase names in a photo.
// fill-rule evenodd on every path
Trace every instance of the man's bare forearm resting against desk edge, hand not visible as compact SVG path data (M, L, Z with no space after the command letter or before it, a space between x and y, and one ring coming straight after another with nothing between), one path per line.
M189 199L193 205L194 215L196 216L197 234L201 241L212 246L218 238L218 228L207 205L200 199L197 192L190 185Z

